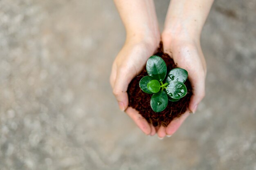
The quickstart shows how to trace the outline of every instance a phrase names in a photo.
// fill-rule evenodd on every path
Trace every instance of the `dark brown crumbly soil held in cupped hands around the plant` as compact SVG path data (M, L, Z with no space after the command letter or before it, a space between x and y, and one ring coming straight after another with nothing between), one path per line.
M155 55L162 57L162 59L165 61L167 66L167 73L171 69L177 67L173 59L168 54L163 52L162 42L160 43L160 46ZM155 113L150 106L150 98L152 95L144 93L139 88L140 79L146 75L148 75L148 73L145 66L141 73L139 73L139 75L132 79L130 82L127 91L129 97L129 106L138 110L139 113L145 117L145 119L150 124L153 124L153 126L167 126L175 117L180 117L180 115L185 113L187 107L189 106L190 97L192 96L192 88L189 79L187 79L184 83L188 91L186 96L177 102L169 101L165 110L159 113Z

